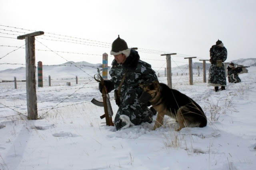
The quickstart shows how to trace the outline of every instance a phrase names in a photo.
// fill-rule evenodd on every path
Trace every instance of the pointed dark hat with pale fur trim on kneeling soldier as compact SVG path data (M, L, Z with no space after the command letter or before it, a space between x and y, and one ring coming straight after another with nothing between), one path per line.
M130 51L131 49L128 49L127 43L118 35L118 38L112 43L110 55L124 54L126 57L128 57L130 55Z

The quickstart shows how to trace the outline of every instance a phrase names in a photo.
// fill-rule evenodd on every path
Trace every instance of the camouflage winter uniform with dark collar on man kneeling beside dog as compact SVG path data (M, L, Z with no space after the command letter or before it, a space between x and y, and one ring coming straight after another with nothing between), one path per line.
M120 89L120 106L115 116L116 129L125 126L125 123L120 120L120 115L128 116L134 125L152 122L152 111L146 105L138 102L138 98L142 94L142 88L138 84L141 82L147 84L158 80L151 65L141 61L138 52L131 49L130 55L123 64L118 64L116 60L112 62L109 74L114 89L117 91L123 76L126 74Z

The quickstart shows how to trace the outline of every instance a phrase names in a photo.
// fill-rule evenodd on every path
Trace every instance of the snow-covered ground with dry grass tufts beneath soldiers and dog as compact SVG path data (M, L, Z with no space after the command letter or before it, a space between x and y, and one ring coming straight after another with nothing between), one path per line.
M194 76L198 79L194 85L188 85L188 76L173 77L172 87L194 99L208 118L204 128L179 132L169 117L155 131L154 122L120 131L106 126L100 119L103 107L90 102L101 100L92 77L79 79L78 84L52 80L48 86L44 81L43 88L37 87L38 117L42 117L38 120L12 116L16 111L26 114L25 82L17 82L17 89L13 82L0 83L0 170L255 170L256 67L248 70L239 75L241 83L228 83L219 92L203 83L202 75ZM7 74L0 73L0 79ZM60 70L51 74L65 77ZM24 75L16 72L16 76ZM166 77L159 80L167 83ZM111 92L115 115L113 96Z

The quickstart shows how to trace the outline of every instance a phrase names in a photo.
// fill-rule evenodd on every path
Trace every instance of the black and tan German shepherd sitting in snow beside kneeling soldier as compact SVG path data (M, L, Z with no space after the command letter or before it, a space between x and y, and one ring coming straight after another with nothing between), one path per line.
M178 90L169 88L164 83L155 81L151 84L140 84L143 93L139 98L142 103L150 102L156 109L156 123L154 129L163 125L164 115L168 115L178 122L180 131L183 127L205 127L207 119L202 108L190 97Z

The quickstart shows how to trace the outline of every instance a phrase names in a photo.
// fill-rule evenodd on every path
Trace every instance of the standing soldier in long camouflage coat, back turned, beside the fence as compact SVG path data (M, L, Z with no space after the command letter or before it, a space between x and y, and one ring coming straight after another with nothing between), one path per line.
M210 63L208 86L214 86L215 92L225 90L226 76L223 62L227 59L227 49L224 47L222 41L218 40L216 45L210 48Z

